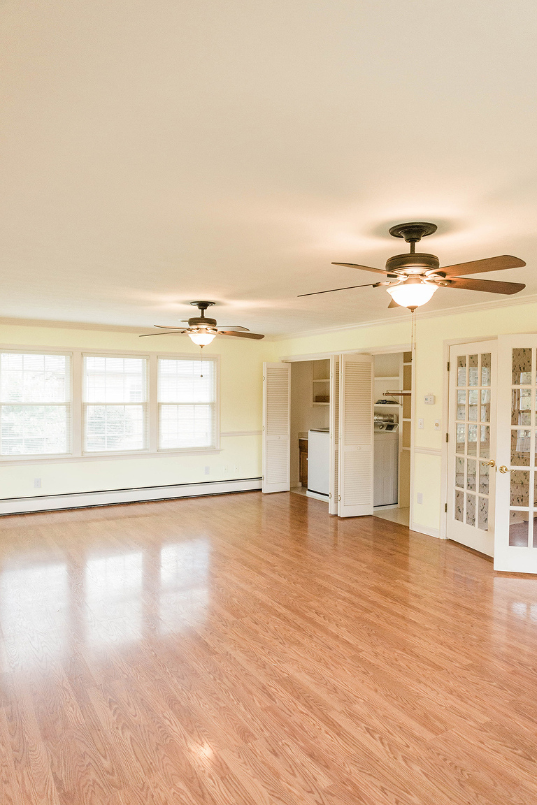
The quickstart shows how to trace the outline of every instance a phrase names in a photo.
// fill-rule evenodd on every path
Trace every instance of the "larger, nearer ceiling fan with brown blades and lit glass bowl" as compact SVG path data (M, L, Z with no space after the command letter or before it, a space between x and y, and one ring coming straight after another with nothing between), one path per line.
M385 285L387 286L386 291L391 295L391 302L388 308L402 307L410 308L411 311L414 311L419 305L428 302L432 295L436 293L438 287L442 286L464 288L468 291L487 291L493 294L517 294L518 291L522 291L526 287L523 283L491 282L489 279L471 279L461 276L525 266L526 263L518 257L502 254L499 257L460 262L455 266L443 266L440 268L440 261L435 254L424 254L423 252L415 251L415 244L422 237L436 232L435 224L414 221L409 224L392 226L389 231L393 237L403 237L407 243L410 243L410 252L408 254L394 254L393 257L388 258L386 260L386 270L371 268L371 266L359 266L353 262L333 262L332 264L333 266L359 268L362 271L374 271L375 274L384 275L386 282L349 285L345 288L331 288L329 291L314 291L310 294L299 295L314 296L316 294L329 294L333 291L349 291L351 288L378 288Z

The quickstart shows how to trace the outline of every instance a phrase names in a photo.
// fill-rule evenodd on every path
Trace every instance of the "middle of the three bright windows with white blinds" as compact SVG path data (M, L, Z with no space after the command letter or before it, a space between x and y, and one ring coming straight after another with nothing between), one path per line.
M85 355L84 450L147 449L147 358Z

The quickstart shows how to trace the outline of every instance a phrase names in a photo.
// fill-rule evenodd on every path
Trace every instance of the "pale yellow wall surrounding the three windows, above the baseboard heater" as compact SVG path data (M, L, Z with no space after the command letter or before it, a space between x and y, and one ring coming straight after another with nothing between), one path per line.
M0 344L56 349L135 350L138 353L190 353L200 349L186 336L140 339L130 332L0 324ZM209 354L219 354L221 431L261 431L263 342L217 338ZM209 466L209 475L204 468ZM261 436L222 436L221 452L208 455L161 455L132 459L0 464L0 497L89 492L138 486L221 481L261 476ZM34 478L42 479L34 489Z

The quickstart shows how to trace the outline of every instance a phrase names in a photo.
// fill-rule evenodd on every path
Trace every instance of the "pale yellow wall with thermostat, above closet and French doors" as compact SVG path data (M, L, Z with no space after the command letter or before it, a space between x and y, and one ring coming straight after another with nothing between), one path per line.
M426 308L423 308L424 316ZM479 340L510 332L537 331L537 303L512 305L488 310L473 310L448 316L417 317L415 353L415 420L424 420L423 430L415 430L417 448L435 448L440 452L445 438L445 426L434 430L434 420L442 419L444 382L444 341L454 339ZM273 341L270 360L281 357L337 353L342 350L366 350L399 346L411 341L411 315L399 318L394 324L360 327L341 332L320 333L316 336ZM425 394L435 394L436 404L425 405ZM414 499L414 522L433 533L440 529L440 455L415 453L414 493L423 493L423 503Z

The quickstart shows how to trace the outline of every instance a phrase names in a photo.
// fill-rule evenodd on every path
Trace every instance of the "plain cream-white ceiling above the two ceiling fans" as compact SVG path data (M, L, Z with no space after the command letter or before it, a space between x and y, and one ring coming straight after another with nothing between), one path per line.
M409 220L444 265L522 257L481 277L537 292L536 36L534 0L3 0L0 316L408 316L296 295L374 281L330 262L382 267Z

